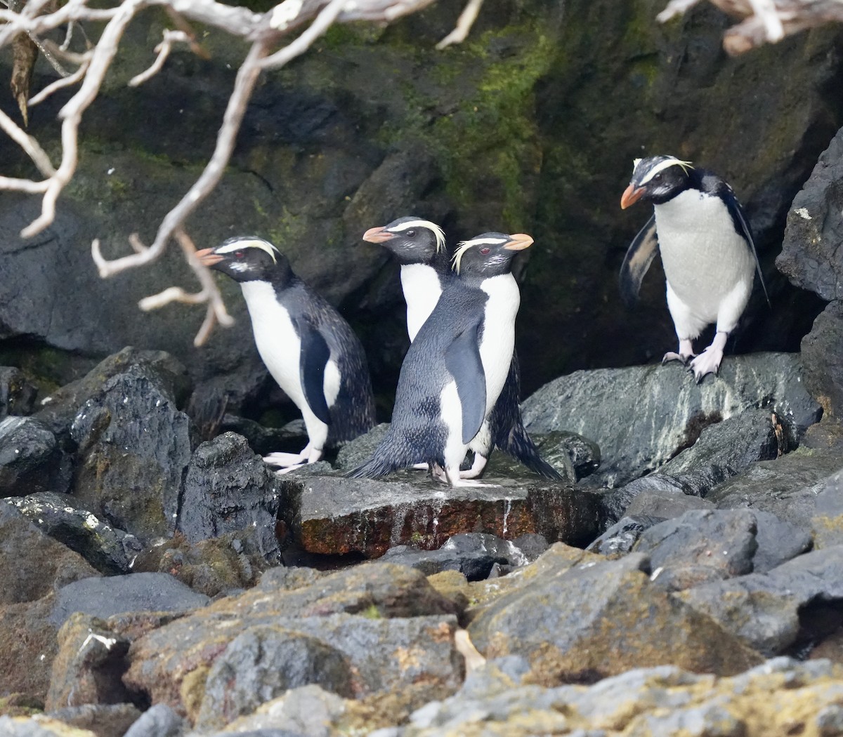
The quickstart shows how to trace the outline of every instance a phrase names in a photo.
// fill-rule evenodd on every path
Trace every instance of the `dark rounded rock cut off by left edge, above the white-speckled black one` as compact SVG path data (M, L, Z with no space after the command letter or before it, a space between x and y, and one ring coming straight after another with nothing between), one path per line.
M71 462L46 425L31 417L0 419L0 496L67 491Z

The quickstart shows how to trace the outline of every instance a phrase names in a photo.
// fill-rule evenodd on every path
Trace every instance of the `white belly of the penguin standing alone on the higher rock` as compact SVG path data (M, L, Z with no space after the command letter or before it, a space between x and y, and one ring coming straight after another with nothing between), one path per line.
M687 190L657 205L656 232L670 288L695 314L714 322L738 282L754 276L754 260L717 197Z

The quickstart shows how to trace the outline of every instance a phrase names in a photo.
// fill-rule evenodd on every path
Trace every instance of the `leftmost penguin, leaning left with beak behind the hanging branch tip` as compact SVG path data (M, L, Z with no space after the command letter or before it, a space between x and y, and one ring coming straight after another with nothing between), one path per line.
M307 446L300 453L271 453L264 461L287 473L318 461L326 443L373 428L372 383L360 340L272 243L236 236L196 257L239 282L260 358L302 413Z

